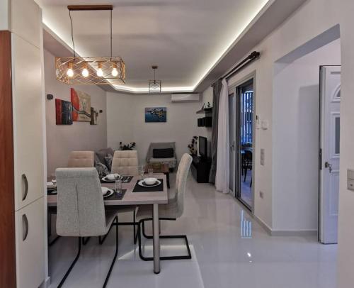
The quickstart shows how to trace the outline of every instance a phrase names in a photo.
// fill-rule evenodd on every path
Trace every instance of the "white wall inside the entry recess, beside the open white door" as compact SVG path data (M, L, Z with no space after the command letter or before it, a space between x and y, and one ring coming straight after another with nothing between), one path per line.
M275 65L273 230L317 230L320 65L341 65L340 40Z

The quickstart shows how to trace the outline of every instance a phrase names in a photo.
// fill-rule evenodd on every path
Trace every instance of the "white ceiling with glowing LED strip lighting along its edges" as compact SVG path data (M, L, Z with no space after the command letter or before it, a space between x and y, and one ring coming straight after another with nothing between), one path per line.
M112 4L113 55L121 56L127 67L126 84L114 88L133 93L148 91L148 79L154 77L152 65L159 65L156 78L162 80L163 92L192 92L203 83L205 86L205 79L210 78L210 72L235 40L275 3L275 0L36 1L42 8L45 26L70 48L67 5ZM293 11L296 7L291 8ZM110 55L109 16L109 11L72 11L74 43L79 55ZM279 11L273 18L277 17ZM66 55L57 53L55 56L67 55L64 50ZM234 63L227 63L224 71Z

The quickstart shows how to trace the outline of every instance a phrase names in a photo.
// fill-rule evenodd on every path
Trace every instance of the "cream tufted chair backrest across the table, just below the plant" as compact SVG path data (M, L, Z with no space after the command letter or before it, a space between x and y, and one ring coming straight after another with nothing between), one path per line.
M118 150L113 156L112 173L138 175L137 165L137 150Z

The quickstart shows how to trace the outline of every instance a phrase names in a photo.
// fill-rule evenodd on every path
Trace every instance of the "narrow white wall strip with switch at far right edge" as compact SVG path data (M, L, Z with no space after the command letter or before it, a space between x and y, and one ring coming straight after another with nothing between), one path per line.
M354 1L338 1L341 11L341 167L339 192L338 288L354 283L354 192L347 189L346 170L354 169Z

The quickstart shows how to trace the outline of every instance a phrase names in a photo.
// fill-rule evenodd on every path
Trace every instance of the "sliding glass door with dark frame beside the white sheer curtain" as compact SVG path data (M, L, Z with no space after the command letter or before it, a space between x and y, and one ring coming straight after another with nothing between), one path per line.
M253 78L229 90L230 190L249 210L253 209Z

